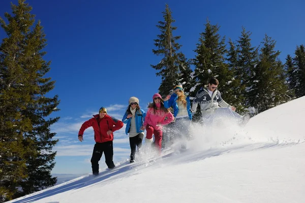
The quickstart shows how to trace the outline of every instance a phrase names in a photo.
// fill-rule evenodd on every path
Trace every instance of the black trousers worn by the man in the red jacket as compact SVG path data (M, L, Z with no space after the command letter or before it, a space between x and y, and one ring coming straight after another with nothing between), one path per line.
M114 168L113 163L113 143L112 141L104 142L104 143L96 143L94 145L93 154L91 158L91 164L92 164L92 173L98 174L99 173L99 161L101 160L101 157L103 155L103 152L105 154L105 162L108 166L108 168Z

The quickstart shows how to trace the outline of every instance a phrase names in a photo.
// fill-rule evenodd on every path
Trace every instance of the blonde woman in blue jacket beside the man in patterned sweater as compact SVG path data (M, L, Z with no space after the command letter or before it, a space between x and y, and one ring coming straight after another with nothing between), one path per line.
M187 149L192 112L190 97L184 94L182 85L176 85L173 94L167 95L164 99L164 107L173 108L175 117L175 122L173 122L174 134L182 140L181 149Z

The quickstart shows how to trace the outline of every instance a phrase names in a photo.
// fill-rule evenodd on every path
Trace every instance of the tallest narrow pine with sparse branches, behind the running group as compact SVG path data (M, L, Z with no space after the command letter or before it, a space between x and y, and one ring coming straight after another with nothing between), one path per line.
M173 36L173 31L177 27L173 27L172 23L175 20L172 18L172 12L168 5L165 6L163 13L163 21L159 21L157 27L160 29L161 34L158 35L158 39L155 41L157 50L153 49L153 53L157 56L162 56L162 60L157 65L150 65L158 71L157 76L161 76L162 82L159 87L161 95L169 94L169 91L176 85L180 78L180 69L184 69L181 60L185 59L184 54L178 52L181 45L176 41L180 39L180 36Z

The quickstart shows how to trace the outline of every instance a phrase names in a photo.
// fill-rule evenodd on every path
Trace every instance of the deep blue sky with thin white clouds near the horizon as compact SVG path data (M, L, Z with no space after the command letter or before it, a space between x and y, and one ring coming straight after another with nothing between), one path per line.
M2 1L0 16L11 12L11 1ZM14 4L16 0L12 1ZM150 64L160 57L152 53L154 39L160 33L156 25L162 21L165 3L172 10L177 26L175 36L181 51L193 58L199 33L209 18L219 24L226 41L240 36L241 26L252 32L252 45L258 46L265 33L277 41L276 49L285 62L287 54L304 44L305 2L303 0L265 1L30 1L32 13L41 20L48 46L45 60L51 60L47 74L56 81L50 96L58 94L61 111L52 126L59 143L53 173L90 173L90 156L94 146L93 130L77 140L81 124L97 114L101 106L118 119L131 96L140 99L145 109L158 91L161 79ZM0 39L5 37L0 30ZM114 161L128 158L129 140L125 126L114 133ZM104 156L100 161L104 165Z

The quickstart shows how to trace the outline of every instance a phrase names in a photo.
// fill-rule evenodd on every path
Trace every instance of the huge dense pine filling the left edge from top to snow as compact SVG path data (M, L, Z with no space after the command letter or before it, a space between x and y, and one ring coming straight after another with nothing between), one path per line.
M31 10L18 0L13 15L5 13L9 23L0 18L8 36L0 45L0 201L56 183L50 172L57 140L50 125L59 118L49 116L58 111L59 100L45 96L55 82L44 78L50 70L43 60L46 40Z

